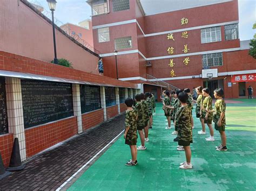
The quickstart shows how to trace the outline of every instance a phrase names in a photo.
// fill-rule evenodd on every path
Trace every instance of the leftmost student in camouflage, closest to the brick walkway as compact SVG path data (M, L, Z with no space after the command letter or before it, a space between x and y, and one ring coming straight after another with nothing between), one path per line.
M137 115L132 108L133 100L132 98L127 98L125 100L127 110L125 113L125 144L130 146L132 159L127 161L126 166L134 166L138 164L137 161Z

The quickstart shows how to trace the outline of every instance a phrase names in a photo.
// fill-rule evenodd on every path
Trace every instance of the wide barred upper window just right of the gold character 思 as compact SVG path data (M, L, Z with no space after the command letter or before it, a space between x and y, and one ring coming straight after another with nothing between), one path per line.
M201 43L221 41L220 26L201 29Z

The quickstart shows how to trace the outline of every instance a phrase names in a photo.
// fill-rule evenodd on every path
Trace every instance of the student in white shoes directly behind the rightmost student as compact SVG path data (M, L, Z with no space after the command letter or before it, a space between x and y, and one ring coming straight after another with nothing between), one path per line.
M212 97L209 95L210 90L208 88L204 88L202 90L203 96L205 96L205 99L203 101L202 105L202 117L204 118L204 123L208 125L208 128L210 130L210 137L206 138L207 142L214 142L214 132L212 128L212 119L213 119L213 114L207 111L212 110Z

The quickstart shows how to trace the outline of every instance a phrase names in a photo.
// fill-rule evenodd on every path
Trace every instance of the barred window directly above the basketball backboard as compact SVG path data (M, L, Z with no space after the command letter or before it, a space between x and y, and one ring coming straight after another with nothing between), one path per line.
M203 54L203 67L222 66L222 53Z

